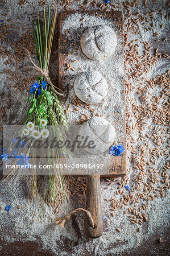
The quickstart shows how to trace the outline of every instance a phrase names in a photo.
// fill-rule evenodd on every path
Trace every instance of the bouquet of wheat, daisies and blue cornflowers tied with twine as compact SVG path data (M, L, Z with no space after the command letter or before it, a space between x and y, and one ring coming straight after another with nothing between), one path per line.
M60 127L67 127L67 121L59 98L61 90L52 84L48 75L57 9L52 19L50 16L50 7L48 7L48 12L44 7L43 26L40 24L39 17L36 20L36 24L32 22L39 67L34 64L27 49L26 51L33 64L31 68L36 69L36 71L39 72L39 76L36 77L35 83L31 85L30 95L25 99L28 100L30 104L27 113L19 123L19 125L23 126L22 130L20 130L20 134L15 133L13 142L10 145L10 150L3 151L1 155L1 158L5 160L12 157L16 163L28 164L30 158L28 152L26 154L23 153L24 146L27 146L29 140L33 143L36 139L48 138L48 125L55 126L55 134L53 134L53 136L57 138L63 136ZM18 135L21 138L20 140L18 139ZM55 161L57 159L57 162L59 162L58 154L59 152L57 152L55 156ZM48 162L52 162L52 158L48 158ZM35 174L31 176L32 197L34 199L38 192L37 183L38 175L36 175L35 170ZM65 195L63 176L61 175L60 168L55 168L55 170L49 172L49 198L51 202L53 202L53 200L58 197L57 203L60 203L60 201L62 201L61 198L64 198Z

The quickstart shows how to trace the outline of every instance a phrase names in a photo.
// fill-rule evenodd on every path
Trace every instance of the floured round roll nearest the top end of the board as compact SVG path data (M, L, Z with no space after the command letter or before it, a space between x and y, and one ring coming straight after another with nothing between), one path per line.
M102 60L113 55L117 46L117 36L108 26L89 27L81 36L81 48L92 60Z

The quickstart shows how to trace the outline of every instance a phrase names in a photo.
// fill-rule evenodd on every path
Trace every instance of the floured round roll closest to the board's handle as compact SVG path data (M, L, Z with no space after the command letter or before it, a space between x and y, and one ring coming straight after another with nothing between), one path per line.
M90 146L85 147L85 151L91 154L101 154L108 150L114 142L115 129L106 119L102 117L92 117L80 127L78 135L81 136L80 139L82 141L88 138L86 145L88 145L90 141L94 142L90 144Z

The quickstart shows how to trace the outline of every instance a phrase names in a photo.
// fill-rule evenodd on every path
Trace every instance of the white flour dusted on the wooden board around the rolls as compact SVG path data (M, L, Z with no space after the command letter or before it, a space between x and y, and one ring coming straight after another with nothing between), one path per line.
M82 19L85 18L83 21ZM82 52L80 48L80 39L82 34L90 27L96 26L107 26L111 30L117 33L117 47L112 56L105 58L105 60L94 61L88 59ZM125 103L123 99L123 42L121 38L120 31L117 27L113 25L112 19L105 19L95 15L88 14L71 14L63 22L62 34L65 35L67 32L66 39L68 44L65 46L67 48L65 54L68 53L68 62L71 63L72 69L68 69L63 79L63 89L68 91L66 103L73 104L74 97L76 96L74 92L74 81L76 77L82 72L97 71L107 81L108 89L107 96L103 98L101 102L97 105L91 105L89 109L93 110L94 115L99 114L103 118L107 119L114 127L118 137L117 142L122 142L123 140L123 118L125 114ZM77 49L77 51L74 51ZM76 61L75 61L76 60ZM69 89L68 89L69 88ZM92 112L89 109L85 109L84 105L78 107L80 112L75 112L73 106L67 114L68 124L77 124L78 119L81 114L87 114L92 117Z

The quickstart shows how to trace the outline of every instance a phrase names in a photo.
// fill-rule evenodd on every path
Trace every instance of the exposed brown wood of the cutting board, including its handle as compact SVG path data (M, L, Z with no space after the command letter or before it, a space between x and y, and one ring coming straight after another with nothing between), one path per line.
M96 16L96 17L102 17L106 20L111 20L114 25L114 30L119 37L122 39L120 42L121 44L121 51L117 53L117 49L115 49L114 54L121 55L123 60L123 22L122 22L122 13L120 11L65 11L63 13L60 13L59 15L59 37L58 37L58 44L59 44L59 87L65 91L67 91L67 95L69 94L69 84L67 84L67 77L68 77L68 71L66 64L69 63L69 51L71 43L68 40L68 34L67 31L63 32L63 25L65 19L69 18L69 16L73 14L81 14L82 20L84 15L90 15L90 16ZM81 23L80 23L81 26ZM96 26L96 24L92 24L92 26ZM85 31L85 30L84 30ZM78 31L77 31L78 32ZM81 37L81 35L80 35ZM79 40L78 40L79 41ZM76 48L74 43L74 48ZM80 41L77 42L77 47L80 47ZM76 73L73 74L73 80L76 79ZM121 87L121 95L122 95L122 103L125 105L125 92L124 92L124 72L122 71L122 87ZM106 96L107 97L107 96ZM73 99L74 100L74 99ZM122 111L122 110L121 110ZM121 112L122 113L122 112ZM117 118L117 121L115 123L115 129L117 132L118 127L122 127L123 129L123 136L121 138L120 144L122 144L126 149L126 122L125 122L125 108L123 109L123 114L121 118ZM100 193L100 176L111 176L111 177L118 177L118 176L125 176L126 175L126 151L121 156L111 156L110 158L110 165L109 168L107 168L104 173L97 172L95 174L95 171L88 172L84 169L74 169L70 173L69 170L65 169L63 170L63 175L74 175L74 176L82 176L86 175L87 177L87 183L86 183L86 204L85 208L89 210L89 212L92 214L95 228L92 228L90 226L88 218L85 214L84 218L84 229L85 234L88 237L99 237L102 235L102 207L101 207L101 193Z

